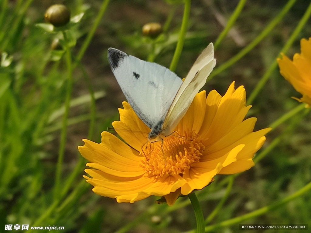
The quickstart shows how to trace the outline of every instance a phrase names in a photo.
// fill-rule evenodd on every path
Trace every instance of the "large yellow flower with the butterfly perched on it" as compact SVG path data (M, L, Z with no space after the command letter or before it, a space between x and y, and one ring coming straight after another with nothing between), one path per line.
M161 141L146 143L150 129L127 102L119 109L113 126L129 145L109 132L101 143L84 139L78 149L91 163L84 176L96 194L130 202L150 195L165 196L169 205L179 194L207 186L216 174L234 174L251 168L253 156L271 128L253 132L256 118L243 121L251 106L245 106L243 86L234 82L222 97L199 92L174 133Z

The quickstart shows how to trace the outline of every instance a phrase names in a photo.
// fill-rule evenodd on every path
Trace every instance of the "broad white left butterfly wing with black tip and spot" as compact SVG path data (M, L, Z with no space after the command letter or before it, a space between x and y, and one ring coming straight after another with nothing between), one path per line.
M118 49L108 49L108 61L126 99L149 127L164 121L182 80L156 63L140 60Z

